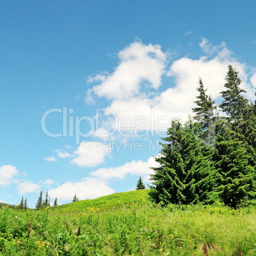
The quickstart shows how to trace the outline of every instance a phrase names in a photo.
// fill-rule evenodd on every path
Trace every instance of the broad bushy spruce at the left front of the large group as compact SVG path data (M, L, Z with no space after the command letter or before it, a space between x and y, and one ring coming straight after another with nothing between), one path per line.
M160 157L155 158L160 167L152 167L149 196L153 202L166 206L211 201L213 166L201 152L196 129L191 119L184 126L172 120Z

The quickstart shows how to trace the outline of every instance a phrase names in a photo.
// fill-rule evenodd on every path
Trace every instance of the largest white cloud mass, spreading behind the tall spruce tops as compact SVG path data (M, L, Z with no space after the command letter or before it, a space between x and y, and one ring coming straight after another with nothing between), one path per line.
M139 137L138 131L154 131L164 136L171 117L185 120L192 113L199 76L205 88L208 88L208 94L217 101L220 99L229 64L239 71L239 77L243 80L241 87L247 91L247 96L253 97L254 90L248 82L248 66L234 59L225 43L213 46L203 38L199 45L206 55L199 59L183 57L175 60L166 73L166 76L173 78L174 83L162 92L155 90L159 89L166 68L167 54L160 50L160 46L136 42L121 51L118 54L119 66L106 79L99 76L102 83L92 89L97 96L110 99L110 106L99 118L99 134L104 129L104 134L111 134L115 130L115 135L119 134L121 138L127 134ZM139 68L140 65L143 68ZM154 79L148 75L152 72L148 66L156 70L156 73L152 73ZM255 79L253 76L251 83L256 83ZM148 85L144 80L151 82Z

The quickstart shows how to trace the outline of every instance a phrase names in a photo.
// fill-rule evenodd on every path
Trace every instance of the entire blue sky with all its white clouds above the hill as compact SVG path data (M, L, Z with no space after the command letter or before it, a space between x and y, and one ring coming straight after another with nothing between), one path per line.
M1 1L0 201L149 183L171 117L227 66L254 100L255 1Z

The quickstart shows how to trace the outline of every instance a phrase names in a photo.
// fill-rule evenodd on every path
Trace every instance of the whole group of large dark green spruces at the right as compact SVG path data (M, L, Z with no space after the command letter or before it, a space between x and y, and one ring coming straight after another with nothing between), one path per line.
M154 203L237 208L256 199L256 100L248 101L240 84L229 65L218 111L199 78L193 117L173 118L155 157L159 167L151 167Z

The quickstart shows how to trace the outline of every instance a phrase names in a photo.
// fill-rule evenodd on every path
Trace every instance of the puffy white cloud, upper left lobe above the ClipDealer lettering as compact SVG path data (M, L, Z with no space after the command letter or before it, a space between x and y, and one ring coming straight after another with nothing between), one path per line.
M167 58L159 45L134 42L121 50L118 58L120 64L111 75L89 78L90 82L99 80L101 84L87 91L86 102L92 100L92 92L108 99L129 99L139 94L142 84L148 89L159 88Z

